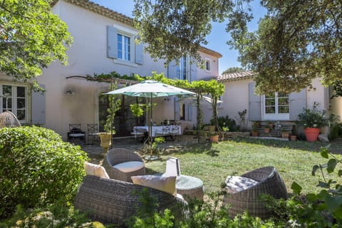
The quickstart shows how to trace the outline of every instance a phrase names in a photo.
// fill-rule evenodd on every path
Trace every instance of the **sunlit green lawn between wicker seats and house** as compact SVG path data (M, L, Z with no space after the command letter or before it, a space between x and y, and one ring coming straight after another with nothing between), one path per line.
M318 192L316 185L322 177L312 176L311 170L314 165L328 161L318 152L323 145L326 144L250 139L193 144L161 155L160 160L146 162L145 165L147 173L165 172L167 157L178 157L182 174L199 177L204 182L205 192L218 191L228 175L242 175L271 165L284 179L288 192L292 192L291 183L294 181L303 187L303 192ZM338 180L337 175L334 180Z

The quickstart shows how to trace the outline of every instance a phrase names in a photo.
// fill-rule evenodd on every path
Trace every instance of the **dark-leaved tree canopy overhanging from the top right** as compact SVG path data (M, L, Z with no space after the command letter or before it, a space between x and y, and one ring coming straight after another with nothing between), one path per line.
M150 44L146 51L171 61L198 56L210 23L228 19L228 43L239 50L242 66L258 73L259 93L298 91L318 77L330 86L342 78L341 1L262 0L267 14L249 31L250 1L135 0L135 21L140 40Z

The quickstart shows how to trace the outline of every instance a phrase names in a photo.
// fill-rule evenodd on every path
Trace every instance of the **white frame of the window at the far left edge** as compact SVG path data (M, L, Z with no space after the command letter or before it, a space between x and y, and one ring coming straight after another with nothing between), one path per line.
M12 93L12 108L11 108L11 112L14 113L14 115L17 116L17 95L16 95L16 88L17 87L24 87L25 88L25 118L24 120L19 120L19 122L21 124L28 124L30 121L30 118L31 118L31 108L29 107L29 102L28 100L31 100L31 95L30 93L28 93L28 90L29 90L29 86L26 85L26 84L20 84L20 83L11 83L11 82L2 82L0 81L0 107L1 107L1 110L0 110L0 113L2 113L2 110L3 110L3 96L2 96L2 93L3 93L3 86L11 86L11 93Z

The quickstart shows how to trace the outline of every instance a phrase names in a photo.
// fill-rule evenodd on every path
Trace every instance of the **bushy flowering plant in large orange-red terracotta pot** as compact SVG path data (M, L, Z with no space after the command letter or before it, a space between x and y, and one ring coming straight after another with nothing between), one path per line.
M325 110L318 110L319 103L314 103L313 107L303 108L303 112L297 115L297 123L304 126L304 133L308 142L314 142L319 135L319 128L326 125L324 115Z

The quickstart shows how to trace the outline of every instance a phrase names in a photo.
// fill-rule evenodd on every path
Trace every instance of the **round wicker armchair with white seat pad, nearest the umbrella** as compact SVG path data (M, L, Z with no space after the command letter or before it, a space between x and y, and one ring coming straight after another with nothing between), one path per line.
M113 166L123 162L133 161L143 162L141 157L131 150L125 148L113 148L109 150L105 156L105 159L103 160L103 167L105 167L105 170L111 179L132 182L130 177L145 175L145 165L138 170L133 170L131 172L123 172Z

